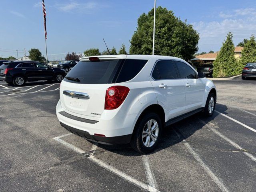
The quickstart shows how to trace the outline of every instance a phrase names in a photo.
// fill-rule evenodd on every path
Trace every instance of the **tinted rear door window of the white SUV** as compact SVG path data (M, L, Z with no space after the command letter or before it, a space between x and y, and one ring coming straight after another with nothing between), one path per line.
M157 74L157 71L159 74ZM156 63L152 73L154 79L177 79L178 75L174 64L170 60L161 60Z

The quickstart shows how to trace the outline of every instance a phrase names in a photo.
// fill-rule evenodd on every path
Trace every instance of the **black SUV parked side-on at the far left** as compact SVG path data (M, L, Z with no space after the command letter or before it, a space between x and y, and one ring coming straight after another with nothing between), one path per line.
M61 82L65 76L66 72L63 69L53 68L37 61L4 62L0 66L0 80L15 86L40 80Z

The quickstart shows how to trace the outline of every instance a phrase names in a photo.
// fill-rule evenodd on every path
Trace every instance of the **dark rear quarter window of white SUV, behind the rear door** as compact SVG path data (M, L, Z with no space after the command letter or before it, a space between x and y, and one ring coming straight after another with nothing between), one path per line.
M126 59L116 79L116 83L133 79L142 70L146 62L148 62L148 60Z

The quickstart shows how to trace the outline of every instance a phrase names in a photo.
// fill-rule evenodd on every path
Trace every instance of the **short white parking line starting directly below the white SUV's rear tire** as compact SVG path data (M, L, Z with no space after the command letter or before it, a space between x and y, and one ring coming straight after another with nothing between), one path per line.
M153 170L150 167L148 156L142 155L142 162L147 178L148 185L158 190L158 185Z

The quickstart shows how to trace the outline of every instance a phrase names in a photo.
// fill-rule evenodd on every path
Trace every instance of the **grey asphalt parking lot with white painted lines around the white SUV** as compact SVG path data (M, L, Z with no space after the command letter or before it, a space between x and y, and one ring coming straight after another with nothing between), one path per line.
M256 80L215 81L216 112L167 127L148 155L70 134L59 84L0 82L1 191L255 191Z

